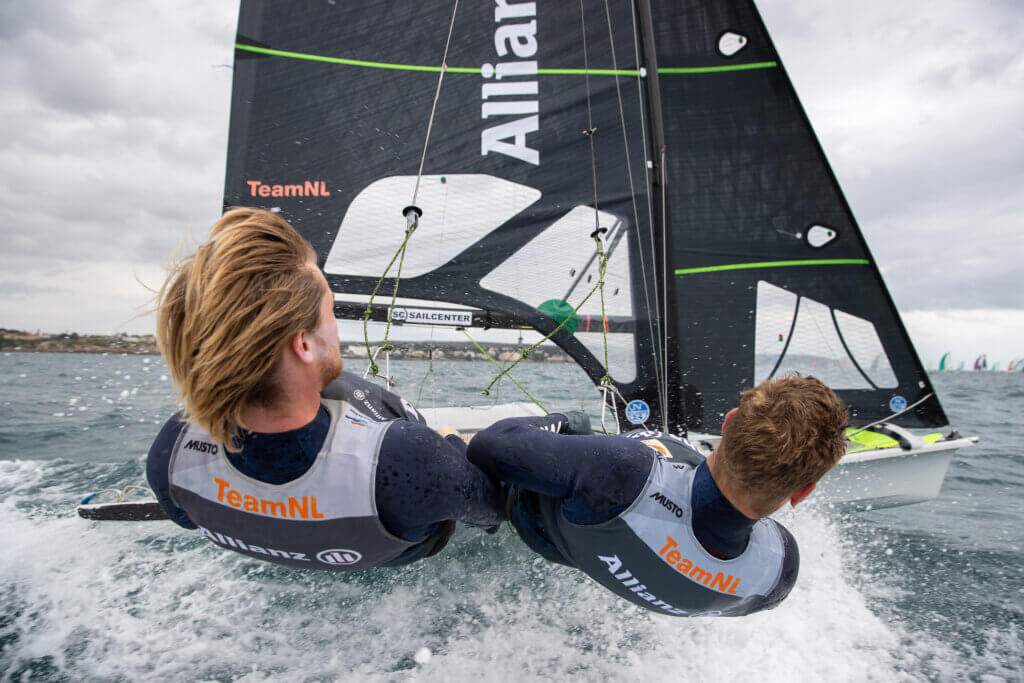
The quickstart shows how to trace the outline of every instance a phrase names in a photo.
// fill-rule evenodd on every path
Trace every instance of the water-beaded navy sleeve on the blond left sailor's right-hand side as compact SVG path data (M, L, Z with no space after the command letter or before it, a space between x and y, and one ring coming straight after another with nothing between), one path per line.
M477 526L505 519L500 485L466 459L465 445L414 422L397 421L384 434L375 490L381 522L408 541L450 519Z

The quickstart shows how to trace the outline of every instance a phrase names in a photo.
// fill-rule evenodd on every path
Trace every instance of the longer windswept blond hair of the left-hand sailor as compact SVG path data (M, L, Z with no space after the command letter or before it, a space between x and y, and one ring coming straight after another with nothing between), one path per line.
M157 298L157 342L184 417L238 450L247 405L273 402L281 352L319 325L316 254L281 216L231 209Z

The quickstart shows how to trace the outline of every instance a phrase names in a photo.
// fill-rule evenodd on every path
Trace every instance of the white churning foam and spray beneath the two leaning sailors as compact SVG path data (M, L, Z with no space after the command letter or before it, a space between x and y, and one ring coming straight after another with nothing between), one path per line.
M618 600L507 532L461 530L435 559L332 574L249 560L169 523L87 522L63 487L39 487L61 467L0 463L0 528L17 549L0 556L14 614L0 664L14 678L891 680L915 664L813 514L783 517L803 561L779 608L683 620Z

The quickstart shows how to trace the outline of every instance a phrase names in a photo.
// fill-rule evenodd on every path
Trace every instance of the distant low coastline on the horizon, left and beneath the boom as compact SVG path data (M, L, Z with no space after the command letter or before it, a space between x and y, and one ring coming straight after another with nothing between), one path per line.
M374 342L376 348L380 342ZM393 342L393 360L487 360L470 342ZM524 346L518 344L487 344L487 353L500 362L511 362L519 357ZM0 351L24 353L130 353L133 355L159 355L157 338L153 335L80 335L76 332L46 334L6 330L0 328ZM341 354L346 358L367 357L360 343L341 342ZM526 360L540 362L568 362L569 356L554 345L545 344L530 351Z

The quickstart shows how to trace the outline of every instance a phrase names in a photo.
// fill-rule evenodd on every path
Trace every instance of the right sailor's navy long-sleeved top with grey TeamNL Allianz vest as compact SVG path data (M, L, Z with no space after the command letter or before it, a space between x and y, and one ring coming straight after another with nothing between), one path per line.
M568 422L503 420L469 444L470 462L511 484L509 518L527 546L665 614L742 615L788 595L796 541L736 510L693 446L658 432L558 433Z

